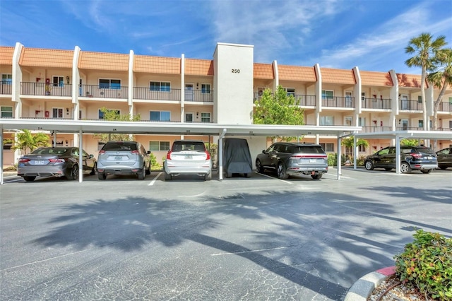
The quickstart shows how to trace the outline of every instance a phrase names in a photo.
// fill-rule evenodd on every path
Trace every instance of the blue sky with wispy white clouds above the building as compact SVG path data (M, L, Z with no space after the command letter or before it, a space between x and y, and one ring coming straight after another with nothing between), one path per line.
M0 45L212 59L254 45L256 63L420 74L420 33L452 47L452 0L1 0Z

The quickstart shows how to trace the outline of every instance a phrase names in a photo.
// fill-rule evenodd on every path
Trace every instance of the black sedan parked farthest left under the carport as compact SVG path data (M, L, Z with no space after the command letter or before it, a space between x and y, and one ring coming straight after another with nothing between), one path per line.
M78 179L79 153L76 147L37 148L19 159L17 175L25 181L34 181L38 176ZM94 156L83 150L82 155L83 172L95 175L97 162Z

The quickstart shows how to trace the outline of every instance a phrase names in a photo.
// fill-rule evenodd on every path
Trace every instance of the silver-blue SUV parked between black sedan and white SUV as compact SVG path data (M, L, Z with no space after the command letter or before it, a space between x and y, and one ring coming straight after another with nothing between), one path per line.
M150 151L136 141L108 141L97 158L97 177L107 175L137 175L144 179L150 175Z

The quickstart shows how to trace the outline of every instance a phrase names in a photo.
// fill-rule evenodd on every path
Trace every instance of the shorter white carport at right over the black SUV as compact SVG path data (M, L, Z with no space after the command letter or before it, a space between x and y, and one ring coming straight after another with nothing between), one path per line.
M396 145L396 173L400 174L400 141L402 139L429 139L429 140L451 140L452 132L450 131L381 131L376 133L358 133L354 135L354 168L357 168L357 138L373 138L373 139L395 139Z

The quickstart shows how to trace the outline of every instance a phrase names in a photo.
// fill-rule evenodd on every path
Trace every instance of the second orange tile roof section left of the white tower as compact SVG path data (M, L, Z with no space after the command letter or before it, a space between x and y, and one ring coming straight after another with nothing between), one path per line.
M181 59L175 57L150 57L136 55L133 61L134 72L180 74Z

